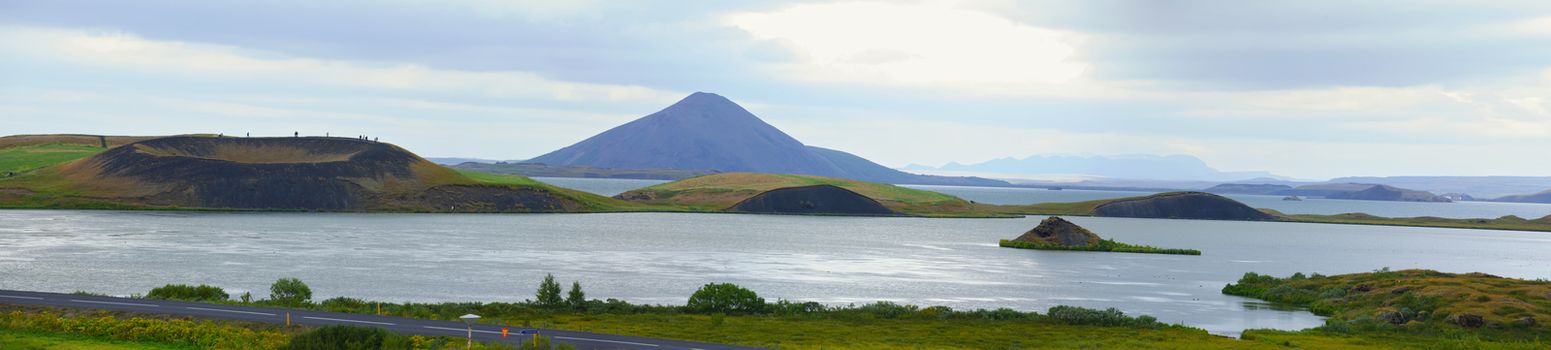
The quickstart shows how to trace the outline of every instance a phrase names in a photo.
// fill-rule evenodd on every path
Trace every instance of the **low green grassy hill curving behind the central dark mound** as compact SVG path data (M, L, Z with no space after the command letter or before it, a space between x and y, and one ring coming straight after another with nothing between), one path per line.
M996 215L993 211L985 211L985 208L962 200L959 197L931 190L907 189L893 184L867 183L867 181L844 180L844 178L785 175L785 173L752 173L752 172L693 177L673 183L630 190L625 194L619 194L614 198L648 203L648 204L678 206L689 211L717 212L717 211L726 211L727 208L737 204L738 201L748 200L766 190L816 186L816 184L830 184L848 189L867 198L876 200L878 203L884 204L892 211L909 215L927 215L927 217Z

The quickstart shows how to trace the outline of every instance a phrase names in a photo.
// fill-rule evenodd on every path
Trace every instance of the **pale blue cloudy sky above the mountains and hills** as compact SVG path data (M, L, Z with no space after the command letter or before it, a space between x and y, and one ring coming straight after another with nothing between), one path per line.
M0 0L0 135L526 160L693 91L895 167L1551 175L1551 2Z

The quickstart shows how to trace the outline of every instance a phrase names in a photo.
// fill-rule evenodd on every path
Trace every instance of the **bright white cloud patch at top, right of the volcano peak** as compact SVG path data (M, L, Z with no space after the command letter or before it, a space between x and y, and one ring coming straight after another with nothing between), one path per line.
M819 3L738 12L724 23L776 40L799 62L774 67L817 82L1050 88L1079 81L1076 34L1022 25L952 3Z

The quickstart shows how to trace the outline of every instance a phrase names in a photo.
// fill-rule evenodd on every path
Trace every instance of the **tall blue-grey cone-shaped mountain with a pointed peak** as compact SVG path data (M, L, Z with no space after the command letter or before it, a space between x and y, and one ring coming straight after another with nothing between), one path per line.
M713 93L527 160L549 166L800 173L881 183L1007 186L985 178L915 175L810 147Z

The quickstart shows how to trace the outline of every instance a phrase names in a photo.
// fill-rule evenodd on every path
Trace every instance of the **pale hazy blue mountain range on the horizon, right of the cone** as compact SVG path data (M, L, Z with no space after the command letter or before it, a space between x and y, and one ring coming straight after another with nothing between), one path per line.
M1033 155L999 158L976 164L948 163L938 167L910 164L906 170L937 170L955 173L1017 175L1089 175L1104 178L1169 180L1169 181L1231 181L1249 178L1281 178L1269 172L1221 172L1190 155Z

